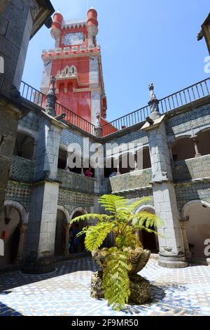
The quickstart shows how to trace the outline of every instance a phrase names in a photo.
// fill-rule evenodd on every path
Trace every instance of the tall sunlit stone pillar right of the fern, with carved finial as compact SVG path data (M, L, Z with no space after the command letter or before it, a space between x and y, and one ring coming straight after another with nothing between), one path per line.
M150 106L153 106L152 100ZM186 263L179 223L179 211L176 204L164 118L165 116L160 117L159 114L156 117L153 116L152 123L147 122L141 129L146 131L148 135L151 152L153 173L151 183L153 185L155 213L164 221L163 227L158 228L158 232L164 235L164 237L158 237L159 264L166 268L184 268L188 263Z

